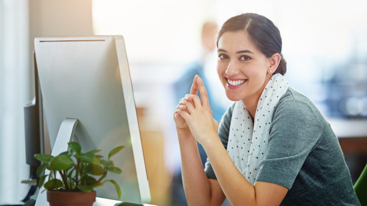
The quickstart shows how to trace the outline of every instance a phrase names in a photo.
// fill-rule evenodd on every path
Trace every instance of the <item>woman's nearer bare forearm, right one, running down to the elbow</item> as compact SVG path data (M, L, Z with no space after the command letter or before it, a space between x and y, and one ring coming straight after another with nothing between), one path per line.
M203 143L218 182L232 205L256 205L255 187L233 164L219 138Z

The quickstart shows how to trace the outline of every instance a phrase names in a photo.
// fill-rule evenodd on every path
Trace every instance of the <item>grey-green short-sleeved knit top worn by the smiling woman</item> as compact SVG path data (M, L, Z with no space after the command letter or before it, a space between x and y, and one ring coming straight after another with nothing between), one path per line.
M225 148L233 107L219 124ZM287 187L280 205L360 205L338 138L310 99L289 87L274 109L269 132L256 181ZM209 160L205 172L216 179Z

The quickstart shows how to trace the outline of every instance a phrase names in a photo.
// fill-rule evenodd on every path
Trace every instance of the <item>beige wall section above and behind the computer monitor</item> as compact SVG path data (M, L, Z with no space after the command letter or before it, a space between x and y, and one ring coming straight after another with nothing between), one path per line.
M93 35L92 0L29 0L30 86L34 96L34 38ZM45 135L45 152L51 153Z

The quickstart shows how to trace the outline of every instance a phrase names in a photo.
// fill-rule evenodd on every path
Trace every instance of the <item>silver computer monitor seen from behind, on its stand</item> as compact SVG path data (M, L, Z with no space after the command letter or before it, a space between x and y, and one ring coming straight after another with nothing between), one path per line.
M65 151L70 138L77 140L84 152L101 149L98 154L103 157L112 148L124 145L112 158L123 172L106 177L119 184L120 199L114 185L108 183L96 188L97 197L149 202L123 36L35 38L34 49L52 154ZM76 122L70 125L70 120ZM36 205L44 198L40 196Z

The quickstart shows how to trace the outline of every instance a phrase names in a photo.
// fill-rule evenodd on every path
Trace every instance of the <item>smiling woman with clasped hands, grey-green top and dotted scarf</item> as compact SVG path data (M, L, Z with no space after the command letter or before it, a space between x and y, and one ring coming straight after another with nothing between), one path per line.
M330 124L282 76L277 27L257 14L232 17L217 48L219 78L235 101L219 128L198 76L174 111L188 204L360 205Z

